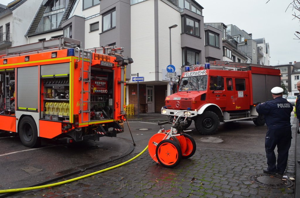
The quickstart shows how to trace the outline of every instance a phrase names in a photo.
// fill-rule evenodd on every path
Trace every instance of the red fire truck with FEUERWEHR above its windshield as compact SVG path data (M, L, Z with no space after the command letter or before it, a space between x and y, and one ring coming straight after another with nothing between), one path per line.
M280 87L278 69L227 61L185 66L181 77L175 80L178 92L166 97L161 113L173 118L176 111L187 110L185 128L194 121L203 135L216 132L220 122L251 120L264 125L256 105L273 99L271 89Z

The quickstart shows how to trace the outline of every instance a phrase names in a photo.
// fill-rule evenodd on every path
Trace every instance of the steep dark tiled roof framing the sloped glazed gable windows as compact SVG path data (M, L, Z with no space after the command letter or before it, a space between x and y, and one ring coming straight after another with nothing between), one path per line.
M37 30L38 28L38 25L40 24L42 18L43 18L43 14L46 10L46 6L43 5L43 3L41 4L38 12L36 13L35 15L35 18L32 20L32 23L31 25L29 26L29 29L27 31L27 33L25 34L25 36L35 36L35 35L39 35L39 34L44 34L44 33L49 33L49 32L55 32L55 31L58 31L58 30L62 30L61 28L61 23L64 22L67 17L69 16L70 14L70 11L71 11L71 8L74 4L76 0L70 0L69 1L69 4L67 5L65 11L64 11L64 15L62 16L61 18L61 21L58 25L58 28L56 29L52 29L52 30L48 30L48 31L44 31L44 32L39 32L39 33L35 33L35 31Z

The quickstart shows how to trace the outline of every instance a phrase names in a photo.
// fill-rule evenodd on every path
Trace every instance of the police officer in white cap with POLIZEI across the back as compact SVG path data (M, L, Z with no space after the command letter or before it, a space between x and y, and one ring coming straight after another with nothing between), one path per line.
M291 146L291 112L293 106L285 98L282 98L283 89L274 87L271 89L274 100L258 104L256 111L265 115L265 123L268 131L265 136L265 152L267 154L268 168L263 172L283 175ZM277 165L274 149L277 146Z

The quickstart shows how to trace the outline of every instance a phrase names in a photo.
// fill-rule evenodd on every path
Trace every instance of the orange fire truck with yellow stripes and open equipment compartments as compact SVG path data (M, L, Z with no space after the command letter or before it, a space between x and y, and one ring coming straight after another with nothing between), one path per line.
M109 55L58 38L8 48L0 58L0 130L16 132L27 147L42 138L67 142L124 132L122 48Z

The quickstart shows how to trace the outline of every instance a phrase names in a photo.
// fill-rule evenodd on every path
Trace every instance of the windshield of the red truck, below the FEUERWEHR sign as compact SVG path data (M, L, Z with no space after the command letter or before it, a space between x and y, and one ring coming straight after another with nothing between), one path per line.
M204 91L207 88L207 75L184 77L180 81L179 92Z

